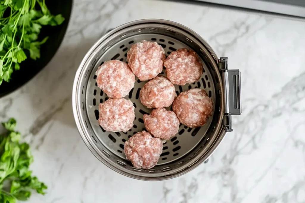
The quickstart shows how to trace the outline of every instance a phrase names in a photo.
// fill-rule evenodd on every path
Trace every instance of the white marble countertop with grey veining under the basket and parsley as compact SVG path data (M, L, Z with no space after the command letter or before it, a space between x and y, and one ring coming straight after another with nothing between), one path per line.
M181 177L146 182L96 159L74 124L74 73L109 28L169 19L205 38L242 72L242 116L233 117L210 161ZM75 0L58 53L34 79L0 100L33 148L32 169L48 186L33 203L305 202L305 22L156 0Z

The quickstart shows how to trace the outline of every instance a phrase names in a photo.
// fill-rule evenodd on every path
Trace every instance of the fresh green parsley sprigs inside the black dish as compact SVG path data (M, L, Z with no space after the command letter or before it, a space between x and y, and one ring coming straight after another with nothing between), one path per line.
M35 9L36 4L41 10ZM51 15L45 0L0 0L0 85L3 80L9 82L13 70L20 69L27 51L30 58L40 58L40 46L48 39L37 40L41 27L63 21L61 14Z

